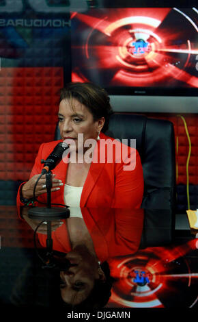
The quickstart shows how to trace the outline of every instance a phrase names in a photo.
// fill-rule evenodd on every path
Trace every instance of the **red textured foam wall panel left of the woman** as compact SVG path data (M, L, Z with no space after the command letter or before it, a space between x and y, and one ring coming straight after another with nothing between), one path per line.
M29 177L40 144L54 138L61 87L61 67L1 69L0 180Z

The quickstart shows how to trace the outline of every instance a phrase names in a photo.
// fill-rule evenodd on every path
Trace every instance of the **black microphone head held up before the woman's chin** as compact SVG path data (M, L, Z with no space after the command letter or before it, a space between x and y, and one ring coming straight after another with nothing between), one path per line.
M55 166L59 164L62 158L63 152L66 151L67 149L69 152L69 146L66 145L66 143L59 142L55 146L51 154L48 156L48 158L46 158L46 160L43 160L43 159L41 160L41 163L44 163L44 168L42 169L42 175L44 175L50 170L55 169Z

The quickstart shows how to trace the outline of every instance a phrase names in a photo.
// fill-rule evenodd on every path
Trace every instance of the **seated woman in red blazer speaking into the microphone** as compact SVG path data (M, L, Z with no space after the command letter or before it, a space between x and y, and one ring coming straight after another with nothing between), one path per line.
M107 92L94 84L71 83L61 90L59 129L62 140L70 144L70 154L52 171L52 203L65 204L66 188L78 187L81 188L81 193L76 195L76 204L75 200L72 205L68 204L69 199L67 206L141 206L143 170L139 153L117 140L117 149L112 149L115 140L102 133L108 127L111 114ZM33 198L33 187L43 168L41 159L46 160L58 142L43 143L40 146L29 181L23 183L18 191L18 206ZM44 176L38 182L36 197L40 201L46 201ZM73 197L75 199L75 194Z

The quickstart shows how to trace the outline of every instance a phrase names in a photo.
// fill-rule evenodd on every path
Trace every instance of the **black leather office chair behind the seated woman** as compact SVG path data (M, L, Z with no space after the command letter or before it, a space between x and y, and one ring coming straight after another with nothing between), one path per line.
M175 227L175 139L173 123L146 116L115 113L105 133L136 139L143 166L145 220L141 247L168 245ZM60 138L59 129L55 140Z

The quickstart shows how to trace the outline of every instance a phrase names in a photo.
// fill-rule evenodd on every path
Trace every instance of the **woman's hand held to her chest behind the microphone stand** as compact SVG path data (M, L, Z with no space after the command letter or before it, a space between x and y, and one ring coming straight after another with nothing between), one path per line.
M31 179L29 179L29 181L23 185L21 190L23 198L27 198L27 199L33 198L33 188L39 176L40 175L33 175L33 177L31 177ZM55 175L52 175L52 186L53 188L51 188L51 191L59 190L60 189L59 187L63 186L63 182L61 182L61 180L59 179L55 179ZM36 197L38 197L39 195L42 195L42 193L46 193L46 192L47 192L46 176L42 175L42 177L40 178L36 186L35 195Z

